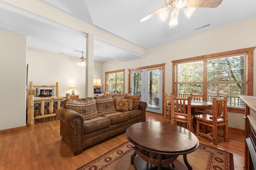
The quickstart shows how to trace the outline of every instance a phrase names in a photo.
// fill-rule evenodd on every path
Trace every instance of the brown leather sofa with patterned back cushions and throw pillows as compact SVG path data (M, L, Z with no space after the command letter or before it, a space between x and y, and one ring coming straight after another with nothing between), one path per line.
M56 111L60 135L74 156L81 154L86 147L126 131L134 123L146 121L147 104L139 98L119 94L64 100L63 107Z

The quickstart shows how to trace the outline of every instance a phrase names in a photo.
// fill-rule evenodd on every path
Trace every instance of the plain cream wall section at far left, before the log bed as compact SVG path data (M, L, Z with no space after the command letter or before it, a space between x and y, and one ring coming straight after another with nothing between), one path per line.
M27 37L0 30L0 130L26 126Z

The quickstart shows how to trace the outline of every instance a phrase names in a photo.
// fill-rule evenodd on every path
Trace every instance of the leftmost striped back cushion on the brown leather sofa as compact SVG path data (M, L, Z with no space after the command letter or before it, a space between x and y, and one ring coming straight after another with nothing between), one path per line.
M66 99L63 101L63 107L81 113L84 117L90 117L97 114L94 98Z

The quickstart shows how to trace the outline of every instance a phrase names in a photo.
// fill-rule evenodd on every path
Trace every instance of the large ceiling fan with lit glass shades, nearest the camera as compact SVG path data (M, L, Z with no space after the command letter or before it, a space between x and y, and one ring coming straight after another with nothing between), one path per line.
M160 14L160 18L165 21L170 10L171 20L169 22L169 28L176 27L178 25L178 15L181 8L188 18L193 14L197 7L201 8L216 8L222 3L222 0L165 0L166 6L140 18L140 22L144 22L152 18L156 14Z

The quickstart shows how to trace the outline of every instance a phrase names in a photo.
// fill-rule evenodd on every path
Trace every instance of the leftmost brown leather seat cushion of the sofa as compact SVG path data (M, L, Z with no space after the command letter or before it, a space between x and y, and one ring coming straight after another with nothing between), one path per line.
M92 133L106 127L110 127L110 119L98 115L84 119L84 134Z

